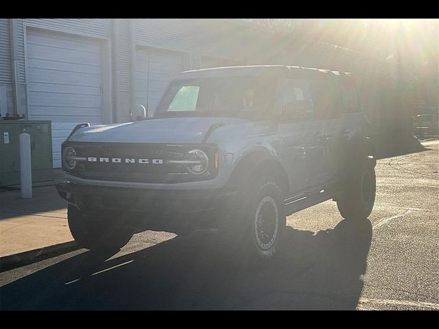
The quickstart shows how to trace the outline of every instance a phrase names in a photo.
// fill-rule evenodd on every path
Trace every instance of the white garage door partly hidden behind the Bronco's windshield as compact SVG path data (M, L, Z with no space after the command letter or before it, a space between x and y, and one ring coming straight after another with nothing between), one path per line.
M141 49L136 52L136 101L156 110L171 81L183 71L181 53Z

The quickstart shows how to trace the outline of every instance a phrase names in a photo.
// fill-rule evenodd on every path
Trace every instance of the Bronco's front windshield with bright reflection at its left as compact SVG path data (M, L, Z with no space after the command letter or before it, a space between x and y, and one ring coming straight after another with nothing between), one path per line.
M167 88L155 117L263 119L271 112L275 85L273 77L262 75L176 80Z

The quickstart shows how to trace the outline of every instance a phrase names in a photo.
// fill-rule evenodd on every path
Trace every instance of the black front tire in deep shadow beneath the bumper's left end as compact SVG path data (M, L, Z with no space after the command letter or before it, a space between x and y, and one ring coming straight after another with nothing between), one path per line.
M97 220L71 204L67 211L71 235L80 247L98 252L117 252L132 238L133 230L123 223Z

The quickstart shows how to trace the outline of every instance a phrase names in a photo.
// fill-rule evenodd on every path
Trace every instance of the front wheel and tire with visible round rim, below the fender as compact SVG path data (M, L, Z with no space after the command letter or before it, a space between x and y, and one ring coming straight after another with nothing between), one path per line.
M219 225L219 237L239 258L265 263L276 254L285 226L281 188L274 180L259 177L241 191L235 209Z

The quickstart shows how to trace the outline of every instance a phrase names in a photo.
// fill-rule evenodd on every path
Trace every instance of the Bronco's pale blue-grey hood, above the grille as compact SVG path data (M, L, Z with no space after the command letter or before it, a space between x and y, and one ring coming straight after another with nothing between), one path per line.
M69 138L73 142L102 143L201 143L211 125L248 123L246 119L222 117L161 118L121 123L94 125L78 130Z

